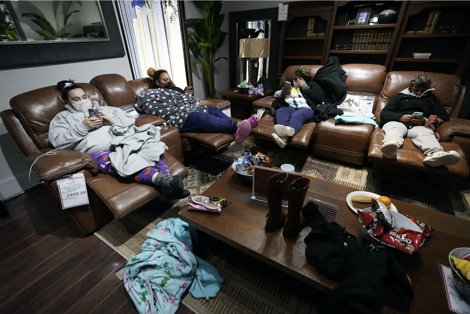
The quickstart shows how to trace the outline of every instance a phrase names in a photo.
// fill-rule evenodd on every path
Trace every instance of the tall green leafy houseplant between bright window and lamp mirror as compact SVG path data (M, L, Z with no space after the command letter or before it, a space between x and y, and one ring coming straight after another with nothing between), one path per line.
M222 1L193 1L203 18L189 18L186 20L188 28L188 47L201 64L204 72L204 89L209 98L215 98L214 68L215 63L226 57L215 58L217 49L222 47L227 32L220 31L224 14L219 14Z

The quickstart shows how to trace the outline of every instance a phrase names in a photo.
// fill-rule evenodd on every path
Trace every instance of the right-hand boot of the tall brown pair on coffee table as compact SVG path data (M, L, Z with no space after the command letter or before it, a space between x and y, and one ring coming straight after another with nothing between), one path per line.
M307 178L298 178L289 185L289 207L287 211L287 220L282 230L282 235L286 238L297 236L305 227L305 219L300 215L304 205L305 196L310 185Z

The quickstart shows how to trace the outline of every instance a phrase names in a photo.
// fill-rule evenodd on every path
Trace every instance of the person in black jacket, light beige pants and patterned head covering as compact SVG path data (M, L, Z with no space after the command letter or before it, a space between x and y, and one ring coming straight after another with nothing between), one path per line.
M380 112L380 127L385 132L381 150L385 158L397 158L397 150L403 145L403 138L407 137L423 151L425 165L455 165L460 161L458 152L443 151L434 132L424 127L430 115L449 121L444 105L432 94L433 90L427 75L417 75L411 79L409 88L393 97ZM412 116L415 112L422 115Z

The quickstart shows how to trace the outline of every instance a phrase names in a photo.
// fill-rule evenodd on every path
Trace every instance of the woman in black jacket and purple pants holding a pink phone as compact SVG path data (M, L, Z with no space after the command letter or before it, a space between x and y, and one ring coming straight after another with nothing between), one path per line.
M312 81L312 70L308 65L301 65L294 71L292 87L274 93L273 102L276 110L276 125L271 137L281 148L287 143L288 136L294 136L302 125L313 119L313 109L324 97L320 85Z

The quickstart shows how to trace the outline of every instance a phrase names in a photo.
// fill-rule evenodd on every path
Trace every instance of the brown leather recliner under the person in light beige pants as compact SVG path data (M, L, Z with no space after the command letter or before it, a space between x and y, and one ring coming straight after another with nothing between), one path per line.
M431 78L433 92L444 104L450 116L450 121L444 122L437 128L441 138L441 146L445 151L456 150L461 160L453 166L430 167L423 165L424 155L410 139L405 139L403 146L398 150L397 159L386 159L380 150L384 131L380 128L374 130L368 151L368 159L373 162L385 163L387 166L401 166L429 173L439 173L448 177L465 178L469 175L466 156L470 154L470 121L455 118L461 108L465 86L460 79L451 74L419 72L419 71L393 71L387 73L384 88L380 93L379 103L375 112L377 123L380 124L380 111L395 95L409 86L412 78L419 74L426 74Z

